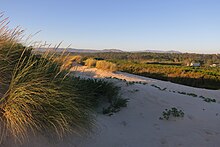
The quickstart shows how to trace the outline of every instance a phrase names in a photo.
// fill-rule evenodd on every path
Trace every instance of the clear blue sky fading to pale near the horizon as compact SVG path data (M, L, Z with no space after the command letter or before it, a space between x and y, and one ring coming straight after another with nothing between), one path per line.
M61 47L220 53L219 0L1 0L0 12Z

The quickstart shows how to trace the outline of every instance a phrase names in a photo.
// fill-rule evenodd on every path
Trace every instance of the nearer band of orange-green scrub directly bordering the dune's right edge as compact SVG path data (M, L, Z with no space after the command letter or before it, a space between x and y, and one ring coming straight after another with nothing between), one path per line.
M220 89L220 68L146 64L125 60L112 62L117 64L120 71L193 87Z

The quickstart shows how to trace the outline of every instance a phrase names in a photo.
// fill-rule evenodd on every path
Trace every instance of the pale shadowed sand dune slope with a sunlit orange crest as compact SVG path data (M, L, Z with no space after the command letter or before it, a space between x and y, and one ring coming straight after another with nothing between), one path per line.
M77 70L84 72L76 71L76 75L86 78L117 77L148 84L126 85L123 81L110 79L122 86L122 97L129 99L127 108L123 108L113 116L98 114L97 128L94 129L94 133L86 137L69 136L63 141L55 142L47 141L43 137L35 137L24 146L217 147L220 145L220 90L192 88L122 72L109 73L84 67L79 67ZM167 89L161 91L152 84ZM215 98L217 103L207 103L199 97L182 95L177 91ZM168 121L159 120L164 109L171 107L183 110L185 116L171 118Z

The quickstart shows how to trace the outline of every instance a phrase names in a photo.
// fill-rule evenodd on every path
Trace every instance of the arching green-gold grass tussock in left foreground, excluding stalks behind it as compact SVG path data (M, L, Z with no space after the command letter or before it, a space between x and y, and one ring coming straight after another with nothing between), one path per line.
M2 98L6 104L1 107L6 127L14 137L25 138L28 128L50 130L61 137L65 132L86 131L91 110L70 87L71 81L65 79L67 72L60 67L34 56L19 62Z

